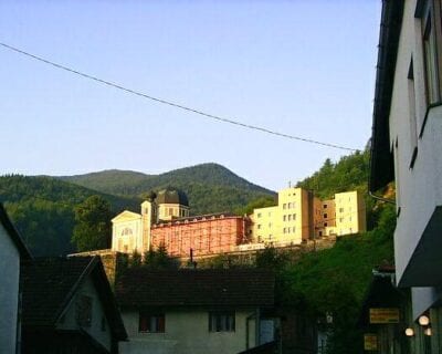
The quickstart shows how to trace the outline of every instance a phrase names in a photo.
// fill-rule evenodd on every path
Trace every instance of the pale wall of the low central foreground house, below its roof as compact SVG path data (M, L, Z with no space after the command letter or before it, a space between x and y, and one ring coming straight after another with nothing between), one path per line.
M209 332L209 312L173 310L166 312L165 333L139 333L138 312L123 311L129 342L119 343L122 354L235 354L246 347L246 317L253 310L235 312L235 332ZM249 325L250 347L255 346L254 320Z

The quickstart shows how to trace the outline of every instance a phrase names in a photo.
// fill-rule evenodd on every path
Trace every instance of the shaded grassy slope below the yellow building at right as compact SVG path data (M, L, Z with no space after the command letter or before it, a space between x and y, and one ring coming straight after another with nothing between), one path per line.
M359 353L362 334L356 322L372 280L372 270L393 264L396 210L382 204L376 227L368 232L340 238L332 249L305 253L280 269L278 289L283 303L296 304L307 315L329 325L328 354Z

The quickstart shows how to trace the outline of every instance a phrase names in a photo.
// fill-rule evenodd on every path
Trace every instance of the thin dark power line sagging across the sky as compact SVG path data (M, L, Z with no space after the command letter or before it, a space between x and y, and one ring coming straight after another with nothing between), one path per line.
M199 111L199 110L196 110L196 108L183 106L183 105L178 104L178 103L173 103L171 101L154 97L154 96L150 96L148 94L145 94L145 93L131 90L131 88L127 88L125 86L122 86L119 84L113 83L110 81L103 80L103 79L99 79L99 77L83 73L81 71L71 69L69 66L64 66L62 64L57 64L55 62L52 62L52 61L43 59L41 56L31 54L31 53L25 52L25 51L23 51L21 49L18 49L15 46L12 46L12 45L9 45L9 44L2 43L2 42L0 42L0 45L6 48L6 49L8 49L8 50L11 50L11 51L14 51L17 53L23 54L23 55L25 55L28 58L32 58L32 59L34 59L36 61L40 61L40 62L43 62L45 64L52 65L52 66L54 66L56 69L67 71L67 72L73 73L75 75L83 76L85 79L98 82L101 84L105 84L105 85L114 87L114 88L118 88L118 90L125 91L127 93L130 93L130 94L134 94L134 95L137 95L137 96L141 96L144 98L148 98L148 100L155 101L157 103L161 103L161 104L169 105L169 106L172 106L172 107L176 107L176 108L179 108L179 110L183 110L183 111L187 111L187 112L199 114L201 116L204 116L207 118L211 118L211 119L214 119L214 121L218 121L218 122L241 126L241 127L248 128L248 129L254 129L254 131L259 131L259 132L271 134L271 135L276 135L276 136L288 138L288 139L301 140L301 142L305 142L305 143L323 145L323 146L333 147L333 148L343 149L343 150L349 150L349 152L356 152L357 150L356 148L351 148L351 147L346 147L346 146L341 146L341 145L337 145L337 144L324 143L324 142L314 140L314 139L311 139L311 138L305 138L305 137L299 137L299 136L294 136L294 135L290 135L290 134L285 134L285 133L275 132L275 131L272 131L272 129L269 129L269 128L265 128L265 127L261 127L261 126L257 126L257 125L246 124L246 123L242 123L242 122L239 122L239 121L235 121L235 119L231 119L231 118L223 118L223 117L220 117L218 115L206 113L206 112L202 112L202 111Z

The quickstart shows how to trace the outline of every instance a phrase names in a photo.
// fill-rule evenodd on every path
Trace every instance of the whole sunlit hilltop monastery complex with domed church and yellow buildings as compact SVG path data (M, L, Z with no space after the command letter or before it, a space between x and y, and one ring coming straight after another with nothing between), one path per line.
M204 257L366 230L366 207L357 191L319 200L313 191L290 187L278 191L276 206L248 216L190 216L186 194L165 189L150 194L140 209L140 214L125 210L112 219L113 251L143 254L164 244L171 257Z

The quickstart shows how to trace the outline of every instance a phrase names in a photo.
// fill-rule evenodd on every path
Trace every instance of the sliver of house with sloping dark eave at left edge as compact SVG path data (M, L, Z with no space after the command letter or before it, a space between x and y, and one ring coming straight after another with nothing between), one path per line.
M0 352L20 351L20 260L31 256L0 204Z

